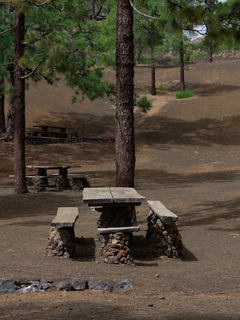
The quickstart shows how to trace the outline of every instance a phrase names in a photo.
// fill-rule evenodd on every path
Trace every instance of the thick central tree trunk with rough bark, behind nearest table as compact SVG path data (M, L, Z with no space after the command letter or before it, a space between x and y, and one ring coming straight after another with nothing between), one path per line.
M134 187L133 9L118 0L116 41L116 187Z

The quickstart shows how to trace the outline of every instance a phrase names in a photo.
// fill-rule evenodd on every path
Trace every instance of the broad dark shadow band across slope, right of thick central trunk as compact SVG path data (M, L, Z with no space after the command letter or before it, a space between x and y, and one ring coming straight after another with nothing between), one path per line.
M240 116L229 116L221 120L199 119L186 121L160 116L148 117L136 130L135 136L139 143L223 146L240 144Z

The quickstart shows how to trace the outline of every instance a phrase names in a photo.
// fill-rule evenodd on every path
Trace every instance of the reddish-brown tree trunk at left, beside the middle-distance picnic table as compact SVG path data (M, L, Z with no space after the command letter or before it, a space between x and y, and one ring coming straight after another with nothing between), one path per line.
M15 13L14 34L14 193L28 192L25 166L25 79L19 66L23 55L25 36L25 15Z

